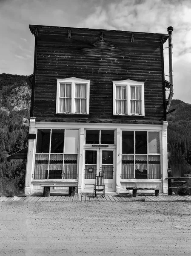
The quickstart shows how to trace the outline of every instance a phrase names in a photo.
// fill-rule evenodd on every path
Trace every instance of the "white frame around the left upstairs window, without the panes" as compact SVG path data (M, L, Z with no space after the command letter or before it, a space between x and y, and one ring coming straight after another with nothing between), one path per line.
M71 112L60 112L59 111L59 99L60 99L60 84L68 83L71 84ZM75 112L75 84L86 84L86 113ZM57 79L57 99L56 99L56 113L72 113L78 115L89 114L89 91L90 91L90 80L80 79L77 77L70 77L66 79Z

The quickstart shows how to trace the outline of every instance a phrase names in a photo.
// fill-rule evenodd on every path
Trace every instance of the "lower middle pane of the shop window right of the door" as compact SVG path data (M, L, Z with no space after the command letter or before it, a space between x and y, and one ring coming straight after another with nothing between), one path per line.
M147 179L147 156L135 155L135 178Z

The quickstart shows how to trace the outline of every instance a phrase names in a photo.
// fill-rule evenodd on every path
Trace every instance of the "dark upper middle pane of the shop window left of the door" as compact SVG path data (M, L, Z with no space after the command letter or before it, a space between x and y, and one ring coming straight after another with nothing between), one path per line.
M52 130L51 153L63 153L64 130Z

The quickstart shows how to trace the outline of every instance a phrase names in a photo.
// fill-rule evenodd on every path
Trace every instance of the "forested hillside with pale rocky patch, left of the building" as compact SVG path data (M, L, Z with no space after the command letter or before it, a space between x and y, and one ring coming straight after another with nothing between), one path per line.
M26 160L7 156L28 145L31 89L25 79L0 74L0 195L18 194L24 186Z

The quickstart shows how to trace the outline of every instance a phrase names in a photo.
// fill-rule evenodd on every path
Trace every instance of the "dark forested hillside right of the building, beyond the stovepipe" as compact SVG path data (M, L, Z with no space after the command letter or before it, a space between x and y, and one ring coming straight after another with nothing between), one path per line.
M173 175L191 174L191 104L172 100L168 120L168 157Z

